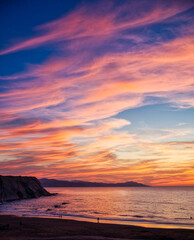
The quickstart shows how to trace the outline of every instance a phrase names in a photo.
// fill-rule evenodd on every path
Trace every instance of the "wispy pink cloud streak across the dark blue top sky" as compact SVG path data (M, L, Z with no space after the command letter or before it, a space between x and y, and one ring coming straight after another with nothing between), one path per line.
M101 7L98 7L96 12L91 11L92 6L82 7L67 16L37 27L36 29L40 31L38 36L1 50L0 55L66 40L79 39L81 41L81 38L92 38L91 42L94 40L95 42L104 41L121 30L163 21L184 12L193 5L190 2L183 4L177 1L170 1L169 5L163 1L159 3L154 4L154 7L150 7L146 2L133 3L133 6L126 3L116 10L108 8L104 14L102 12L102 9L105 9L103 4L100 4ZM120 15L126 13L126 9L127 17L119 21Z

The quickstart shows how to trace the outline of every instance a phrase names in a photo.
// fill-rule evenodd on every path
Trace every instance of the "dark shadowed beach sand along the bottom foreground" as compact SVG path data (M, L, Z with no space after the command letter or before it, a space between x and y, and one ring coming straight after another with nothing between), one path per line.
M143 228L65 219L0 215L0 239L194 240L194 230Z

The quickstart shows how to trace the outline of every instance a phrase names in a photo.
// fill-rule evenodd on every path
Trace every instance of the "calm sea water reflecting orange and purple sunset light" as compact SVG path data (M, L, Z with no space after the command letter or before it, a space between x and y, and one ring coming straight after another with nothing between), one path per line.
M194 187L47 188L56 196L0 205L1 214L194 228ZM63 204L67 203L67 204Z

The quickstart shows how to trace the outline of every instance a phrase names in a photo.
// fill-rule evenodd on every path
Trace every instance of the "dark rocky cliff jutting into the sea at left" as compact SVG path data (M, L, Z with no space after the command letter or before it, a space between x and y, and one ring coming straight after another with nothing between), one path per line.
M35 177L0 175L0 202L50 195Z

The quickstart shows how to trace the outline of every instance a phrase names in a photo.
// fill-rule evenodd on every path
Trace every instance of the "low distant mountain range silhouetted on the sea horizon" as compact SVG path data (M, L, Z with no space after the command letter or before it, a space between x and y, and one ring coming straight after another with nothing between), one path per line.
M148 185L133 181L125 183L99 183L84 181L62 181L48 178L41 178L39 181L43 187L148 187Z

